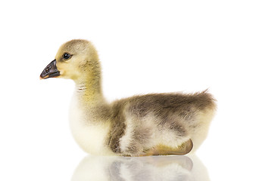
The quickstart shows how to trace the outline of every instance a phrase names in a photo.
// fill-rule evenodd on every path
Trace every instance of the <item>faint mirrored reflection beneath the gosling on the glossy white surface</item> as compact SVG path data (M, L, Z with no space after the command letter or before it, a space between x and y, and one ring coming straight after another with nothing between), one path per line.
M72 181L186 181L210 180L195 156L99 157L89 155L73 173Z

